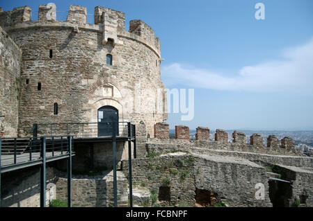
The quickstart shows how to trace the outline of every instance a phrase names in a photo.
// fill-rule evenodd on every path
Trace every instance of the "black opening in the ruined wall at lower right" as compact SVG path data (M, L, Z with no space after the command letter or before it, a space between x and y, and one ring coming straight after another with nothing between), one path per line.
M291 206L292 186L289 182L269 180L268 184L269 197L273 207Z

